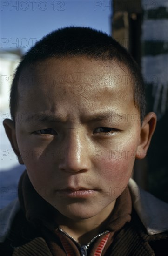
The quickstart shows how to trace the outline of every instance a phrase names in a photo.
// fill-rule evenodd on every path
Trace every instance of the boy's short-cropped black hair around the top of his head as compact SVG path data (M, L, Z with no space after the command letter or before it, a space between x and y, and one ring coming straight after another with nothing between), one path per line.
M143 121L146 112L145 86L140 68L128 51L108 34L89 27L65 27L55 30L23 55L16 69L10 92L10 112L14 121L19 95L18 81L24 68L47 58L86 56L95 60L117 61L124 64L132 78L134 104Z

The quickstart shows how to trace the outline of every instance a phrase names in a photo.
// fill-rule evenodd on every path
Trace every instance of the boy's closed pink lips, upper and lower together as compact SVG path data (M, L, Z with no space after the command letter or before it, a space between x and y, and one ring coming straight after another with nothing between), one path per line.
M95 189L88 189L88 188L66 188L56 190L56 193L60 197L67 197L67 198L88 198L95 196Z

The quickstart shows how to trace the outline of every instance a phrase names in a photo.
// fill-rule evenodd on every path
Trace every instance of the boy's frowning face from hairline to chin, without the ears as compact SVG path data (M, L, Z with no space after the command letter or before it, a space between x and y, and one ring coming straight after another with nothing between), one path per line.
M17 145L36 191L72 219L112 209L141 154L126 69L48 59L22 72L19 95Z

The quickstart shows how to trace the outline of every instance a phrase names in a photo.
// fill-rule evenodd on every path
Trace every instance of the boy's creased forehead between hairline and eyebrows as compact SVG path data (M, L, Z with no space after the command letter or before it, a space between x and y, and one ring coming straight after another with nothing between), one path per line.
M40 106L41 111L67 102L74 108L86 103L93 109L110 104L114 108L124 108L125 103L134 105L130 74L115 61L50 58L25 69L18 90L19 106Z

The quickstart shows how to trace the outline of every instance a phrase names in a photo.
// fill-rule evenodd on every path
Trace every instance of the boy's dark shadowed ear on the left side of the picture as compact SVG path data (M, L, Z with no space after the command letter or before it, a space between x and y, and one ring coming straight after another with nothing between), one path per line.
M12 120L10 119L5 119L3 121L3 125L7 134L7 137L9 139L9 141L11 142L11 146L13 148L14 153L17 155L19 163L20 164L24 164L21 155L20 155L20 151L18 148L18 143L17 143L17 139L16 139L16 130L15 130L15 125L13 123Z

